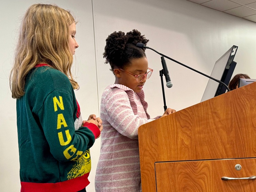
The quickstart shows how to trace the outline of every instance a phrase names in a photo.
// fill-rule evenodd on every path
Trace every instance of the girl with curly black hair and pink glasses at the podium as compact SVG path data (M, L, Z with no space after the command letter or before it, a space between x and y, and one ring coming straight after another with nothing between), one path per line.
M106 39L103 57L115 75L101 97L101 150L95 176L99 191L141 191L138 128L153 121L142 90L153 69L148 67L145 49L137 43L148 39L137 30L113 32ZM163 116L175 110L168 108Z

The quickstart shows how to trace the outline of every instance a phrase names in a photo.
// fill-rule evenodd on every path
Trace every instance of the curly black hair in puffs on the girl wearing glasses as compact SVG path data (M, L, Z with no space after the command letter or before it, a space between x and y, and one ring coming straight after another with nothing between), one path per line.
M141 35L141 32L133 29L126 34L122 31L114 31L106 39L105 52L103 58L105 63L109 63L111 71L114 68L124 68L128 66L133 59L146 57L145 48L136 47L137 43L147 44L149 40Z

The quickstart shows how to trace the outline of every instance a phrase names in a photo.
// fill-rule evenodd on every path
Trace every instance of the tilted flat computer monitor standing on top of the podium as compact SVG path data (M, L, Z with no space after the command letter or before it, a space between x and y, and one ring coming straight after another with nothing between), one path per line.
M228 85L237 64L233 61L237 52L237 48L238 46L233 45L224 55L222 55L220 59L215 62L211 77L218 79ZM221 95L225 93L226 90L226 87L221 83L209 79L201 102Z

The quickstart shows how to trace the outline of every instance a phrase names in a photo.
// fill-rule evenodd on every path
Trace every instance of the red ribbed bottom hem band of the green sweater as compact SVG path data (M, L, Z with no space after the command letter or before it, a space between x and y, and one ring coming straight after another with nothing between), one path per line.
M84 189L89 185L88 180L89 173L84 174L81 177L58 182L58 183L32 183L32 182L20 182L20 192L77 192Z

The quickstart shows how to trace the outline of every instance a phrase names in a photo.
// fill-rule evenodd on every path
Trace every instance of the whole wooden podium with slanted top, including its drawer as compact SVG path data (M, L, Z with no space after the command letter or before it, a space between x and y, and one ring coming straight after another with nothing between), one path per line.
M138 132L143 192L256 191L256 83Z

